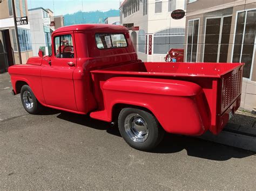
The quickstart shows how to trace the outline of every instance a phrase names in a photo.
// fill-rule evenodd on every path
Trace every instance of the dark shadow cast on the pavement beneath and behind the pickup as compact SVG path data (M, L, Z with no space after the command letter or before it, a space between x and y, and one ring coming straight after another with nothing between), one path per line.
M89 115L81 116L62 111L57 118L86 126L86 128L104 130L111 135L121 137L117 125L111 127L110 123L92 119ZM225 161L231 158L240 159L255 154L240 148L207 142L206 140L195 137L172 135L167 133L165 134L163 141L153 151L151 151L151 153L170 154L181 152L183 150L186 150L187 155L191 157L217 161Z

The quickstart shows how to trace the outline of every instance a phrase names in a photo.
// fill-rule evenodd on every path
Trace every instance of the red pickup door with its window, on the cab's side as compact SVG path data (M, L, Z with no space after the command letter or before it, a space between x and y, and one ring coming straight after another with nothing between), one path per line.
M76 51L73 33L56 34L53 37L52 54L42 68L41 77L46 104L77 111L73 70L76 66Z

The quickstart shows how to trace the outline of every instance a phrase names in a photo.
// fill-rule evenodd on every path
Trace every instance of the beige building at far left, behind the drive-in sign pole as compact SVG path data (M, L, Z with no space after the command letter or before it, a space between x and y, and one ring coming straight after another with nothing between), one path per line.
M26 0L15 0L16 17L28 16ZM18 39L21 48L22 62L32 56L30 25L18 25ZM11 0L0 3L0 73L6 72L11 65L18 64L18 47L15 33L14 12Z

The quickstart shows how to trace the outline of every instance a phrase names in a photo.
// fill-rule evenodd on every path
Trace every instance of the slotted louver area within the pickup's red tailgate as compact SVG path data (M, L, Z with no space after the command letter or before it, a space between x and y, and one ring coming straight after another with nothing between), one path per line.
M241 93L242 70L224 79L224 108L230 105Z

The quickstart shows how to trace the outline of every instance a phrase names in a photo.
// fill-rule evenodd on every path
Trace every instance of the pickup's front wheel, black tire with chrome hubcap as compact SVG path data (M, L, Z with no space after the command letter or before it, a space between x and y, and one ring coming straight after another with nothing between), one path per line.
M33 94L33 91L28 85L24 85L21 88L21 101L24 109L30 114L38 114L42 111L43 106L37 101L35 94Z

